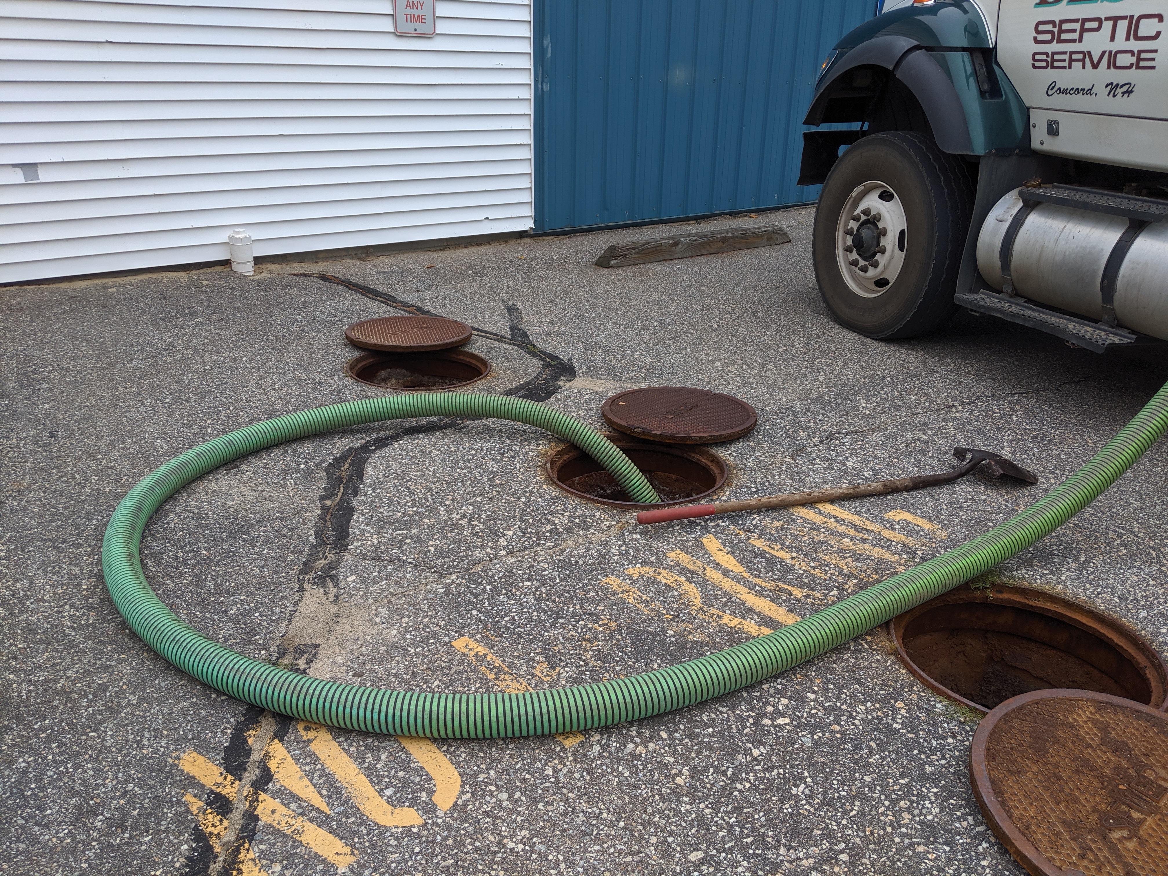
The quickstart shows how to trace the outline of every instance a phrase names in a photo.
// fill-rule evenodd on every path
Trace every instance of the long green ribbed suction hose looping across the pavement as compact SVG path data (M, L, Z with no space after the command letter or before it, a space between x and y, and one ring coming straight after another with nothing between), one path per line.
M425 694L300 675L237 654L176 618L150 589L138 549L151 515L207 472L257 450L340 426L401 417L514 419L568 438L638 501L656 501L632 463L588 425L506 396L410 395L335 404L257 423L172 459L137 484L105 530L102 568L118 611L142 640L215 689L272 711L378 734L496 738L586 730L660 715L752 684L822 654L988 571L1083 510L1168 429L1168 384L1085 466L988 533L773 633L666 669L558 690Z

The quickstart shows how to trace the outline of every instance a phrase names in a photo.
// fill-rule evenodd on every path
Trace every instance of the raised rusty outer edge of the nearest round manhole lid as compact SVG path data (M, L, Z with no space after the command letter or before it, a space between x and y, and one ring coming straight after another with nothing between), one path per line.
M1015 861L1022 864L1028 872L1035 874L1035 876L1069 876L1070 872L1075 871L1064 870L1052 864L1050 858L1040 851L1034 842L1014 823L1014 820L1006 812L1006 808L997 799L997 793L994 791L993 780L989 777L989 766L986 763L986 748L990 734L1006 715L1036 700L1057 698L1093 700L1126 709L1135 709L1161 721L1166 718L1166 712L1162 708L1156 709L1122 696L1104 694L1098 690L1080 690L1078 688L1045 688L1010 697L990 709L986 717L981 719L969 743L969 785L973 787L973 797L976 799L978 808L981 809L982 818L986 819L994 836L1006 847Z

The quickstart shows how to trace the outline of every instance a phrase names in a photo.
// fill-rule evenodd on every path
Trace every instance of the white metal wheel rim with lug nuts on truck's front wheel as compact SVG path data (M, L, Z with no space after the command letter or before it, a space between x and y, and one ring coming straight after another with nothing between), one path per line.
M834 241L840 276L853 292L877 298L892 287L904 266L906 225L891 186L870 180L853 189L836 220Z

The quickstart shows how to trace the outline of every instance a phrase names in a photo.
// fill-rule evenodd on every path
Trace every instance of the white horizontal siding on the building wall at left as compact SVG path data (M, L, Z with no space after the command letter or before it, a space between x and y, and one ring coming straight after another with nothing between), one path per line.
M533 224L528 0L197 2L0 4L0 283Z

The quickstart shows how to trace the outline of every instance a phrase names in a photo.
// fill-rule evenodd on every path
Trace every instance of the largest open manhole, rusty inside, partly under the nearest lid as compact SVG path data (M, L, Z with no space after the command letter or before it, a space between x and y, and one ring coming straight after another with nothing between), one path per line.
M968 585L889 621L896 654L938 694L988 712L1020 694L1076 688L1160 708L1168 666L1139 635L1069 599Z

